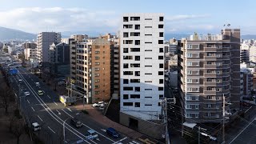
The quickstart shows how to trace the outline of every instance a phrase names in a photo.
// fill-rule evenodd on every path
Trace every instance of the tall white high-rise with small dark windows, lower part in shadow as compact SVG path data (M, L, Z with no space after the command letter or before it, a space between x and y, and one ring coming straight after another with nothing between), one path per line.
M120 32L121 119L123 115L128 119L159 119L160 101L164 97L163 16L123 14Z

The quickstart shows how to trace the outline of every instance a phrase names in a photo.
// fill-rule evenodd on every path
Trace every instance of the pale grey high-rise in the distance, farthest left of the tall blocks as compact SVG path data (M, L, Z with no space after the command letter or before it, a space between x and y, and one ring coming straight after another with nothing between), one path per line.
M41 32L38 34L38 43L37 43L37 58L38 62L49 62L50 54L49 49L50 45L53 42L61 42L61 34L55 32Z

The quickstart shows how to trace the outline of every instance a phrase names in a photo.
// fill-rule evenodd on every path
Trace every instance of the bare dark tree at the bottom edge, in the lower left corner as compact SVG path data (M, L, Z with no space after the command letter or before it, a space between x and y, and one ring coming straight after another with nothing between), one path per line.
M19 143L19 138L25 133L26 125L22 120L16 121L12 126L12 134L17 138L17 144Z

